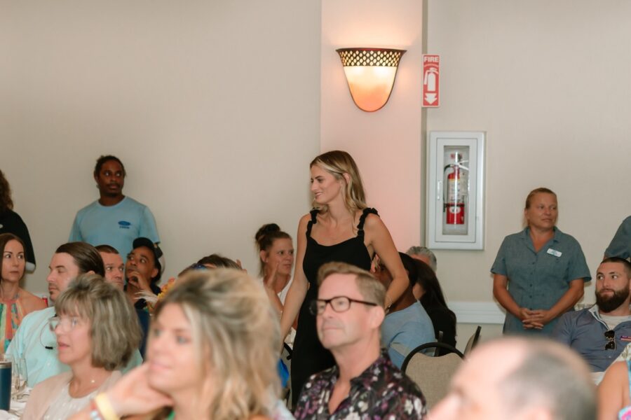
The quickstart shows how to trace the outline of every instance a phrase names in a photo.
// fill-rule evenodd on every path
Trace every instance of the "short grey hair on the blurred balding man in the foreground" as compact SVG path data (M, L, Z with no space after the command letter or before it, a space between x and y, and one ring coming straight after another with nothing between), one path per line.
M560 344L527 343L525 360L498 384L507 412L546 407L555 420L593 420L596 394L585 363Z

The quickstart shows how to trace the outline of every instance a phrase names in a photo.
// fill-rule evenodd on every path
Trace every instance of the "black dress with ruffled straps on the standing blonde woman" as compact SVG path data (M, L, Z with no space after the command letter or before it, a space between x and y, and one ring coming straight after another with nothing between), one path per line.
M375 209L364 209L357 225L357 236L330 246L318 244L311 237L313 223L318 210L311 210L311 221L306 230L306 249L302 269L309 282L309 288L300 307L298 328L292 354L292 407L295 407L302 386L314 373L328 369L335 364L330 351L320 344L315 330L315 316L309 311L309 304L318 298L318 269L326 262L346 262L362 269L370 269L372 260L364 244L364 222L368 214L377 214Z

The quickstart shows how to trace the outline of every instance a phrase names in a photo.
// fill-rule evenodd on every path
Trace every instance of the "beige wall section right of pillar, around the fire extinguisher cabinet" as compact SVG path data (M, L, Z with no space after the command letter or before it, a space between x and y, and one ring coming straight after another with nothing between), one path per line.
M492 299L489 268L538 186L595 271L631 208L629 16L626 1L428 1L442 98L427 130L487 132L484 251L437 251L449 300Z

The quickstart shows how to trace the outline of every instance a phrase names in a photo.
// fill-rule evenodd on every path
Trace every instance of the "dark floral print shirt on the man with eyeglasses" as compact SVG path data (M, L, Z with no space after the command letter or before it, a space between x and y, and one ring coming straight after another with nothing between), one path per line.
M425 398L412 379L393 365L388 351L362 374L351 379L351 391L335 412L329 398L339 377L337 365L314 374L302 388L294 416L297 420L424 419Z

